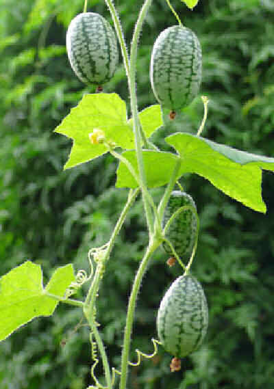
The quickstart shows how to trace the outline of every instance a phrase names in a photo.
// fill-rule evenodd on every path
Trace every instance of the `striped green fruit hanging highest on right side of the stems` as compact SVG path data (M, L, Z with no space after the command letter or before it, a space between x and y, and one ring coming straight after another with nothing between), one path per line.
M182 25L160 33L151 55L150 80L159 103L176 111L190 104L201 83L201 46Z

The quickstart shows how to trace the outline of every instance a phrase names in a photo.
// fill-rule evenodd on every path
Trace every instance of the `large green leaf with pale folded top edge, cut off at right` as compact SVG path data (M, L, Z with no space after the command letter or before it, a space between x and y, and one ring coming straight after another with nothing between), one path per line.
M166 137L179 152L180 174L197 173L216 188L251 209L266 212L262 201L262 169L274 171L274 158L262 157L216 144L186 133Z

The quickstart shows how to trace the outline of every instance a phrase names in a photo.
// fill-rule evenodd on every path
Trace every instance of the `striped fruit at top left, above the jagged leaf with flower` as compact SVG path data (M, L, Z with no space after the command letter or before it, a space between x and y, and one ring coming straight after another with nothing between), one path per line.
M73 18L66 33L66 50L75 75L84 83L102 85L118 66L114 30L103 16L93 12Z

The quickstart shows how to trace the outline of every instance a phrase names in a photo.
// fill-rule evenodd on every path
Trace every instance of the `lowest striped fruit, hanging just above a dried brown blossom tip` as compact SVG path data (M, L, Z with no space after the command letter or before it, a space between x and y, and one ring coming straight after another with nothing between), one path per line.
M199 281L180 276L164 295L157 317L158 337L172 356L184 358L203 342L208 328L208 304Z

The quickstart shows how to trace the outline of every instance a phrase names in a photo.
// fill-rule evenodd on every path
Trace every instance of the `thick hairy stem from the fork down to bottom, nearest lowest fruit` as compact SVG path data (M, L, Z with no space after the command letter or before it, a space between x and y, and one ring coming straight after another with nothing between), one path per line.
M147 247L147 252L145 253L144 258L142 258L142 262L138 268L136 273L134 284L132 286L132 293L129 297L129 305L127 308L127 320L125 325L125 334L123 340L123 352L122 352L122 361L121 361L121 381L120 381L120 389L125 389L127 384L127 369L128 369L128 361L129 361L129 349L131 343L131 334L132 334L132 325L134 321L134 310L136 306L136 299L138 295L138 291L140 289L140 284L142 282L142 277L145 274L147 269L147 265L149 263L149 258L153 254L153 252L157 249L157 247L161 244L160 241L154 240L152 244Z

